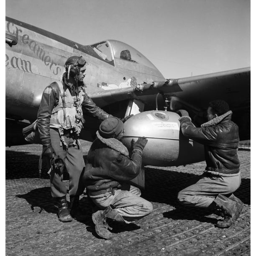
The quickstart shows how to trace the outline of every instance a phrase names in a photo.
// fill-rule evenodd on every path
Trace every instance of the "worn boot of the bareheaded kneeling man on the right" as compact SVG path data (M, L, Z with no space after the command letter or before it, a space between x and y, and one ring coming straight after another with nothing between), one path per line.
M217 222L218 228L228 228L232 225L243 210L243 203L233 201L224 195L219 194L215 200L218 208L224 212L224 220Z

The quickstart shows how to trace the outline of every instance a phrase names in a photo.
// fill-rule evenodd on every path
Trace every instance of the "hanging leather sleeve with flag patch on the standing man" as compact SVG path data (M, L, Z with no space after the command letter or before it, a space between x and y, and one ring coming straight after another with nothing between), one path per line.
M40 107L37 113L38 132L44 145L44 141L50 141L50 119L51 111L56 103L57 89L56 85L50 84L43 92ZM59 96L59 95L58 95ZM59 100L59 99L57 99Z

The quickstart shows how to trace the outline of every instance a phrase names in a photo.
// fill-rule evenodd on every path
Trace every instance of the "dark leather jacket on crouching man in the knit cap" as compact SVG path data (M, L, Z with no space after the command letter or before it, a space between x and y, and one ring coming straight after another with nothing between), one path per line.
M98 136L98 135L97 135ZM120 142L121 143L121 142ZM141 171L142 157L132 152L131 157L121 154L117 148L107 146L96 138L87 154L83 182L90 195L92 191L108 188L121 189L123 184L135 178ZM92 192L92 194L91 194Z

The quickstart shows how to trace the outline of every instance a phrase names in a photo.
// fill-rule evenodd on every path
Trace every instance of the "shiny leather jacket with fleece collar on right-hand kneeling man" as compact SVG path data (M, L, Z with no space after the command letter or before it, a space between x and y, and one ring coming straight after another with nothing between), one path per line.
M238 126L231 121L232 111L195 127L189 117L179 118L182 133L204 145L205 170L223 175L238 174L240 161L238 159L239 134Z

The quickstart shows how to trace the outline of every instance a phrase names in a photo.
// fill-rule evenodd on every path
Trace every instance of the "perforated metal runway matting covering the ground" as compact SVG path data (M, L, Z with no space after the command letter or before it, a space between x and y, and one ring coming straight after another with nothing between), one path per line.
M84 156L91 143L82 141ZM146 166L142 197L152 202L152 214L136 223L113 226L113 239L97 236L85 193L80 196L87 220L61 223L50 194L49 175L43 164L38 177L41 145L6 147L5 253L14 255L250 255L250 151L238 151L242 183L235 192L243 212L228 229L216 228L217 215L183 207L177 193L205 162L178 167ZM68 189L68 174L64 175ZM69 197L67 196L69 201Z

